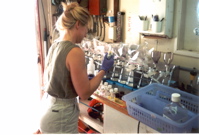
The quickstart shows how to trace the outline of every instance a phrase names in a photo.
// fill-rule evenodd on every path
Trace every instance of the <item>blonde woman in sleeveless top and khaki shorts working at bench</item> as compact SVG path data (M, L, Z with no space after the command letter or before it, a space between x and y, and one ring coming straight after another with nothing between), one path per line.
M76 2L62 6L64 12L56 22L59 40L51 46L45 67L40 121L40 131L44 134L78 133L76 97L88 99L114 63L113 56L106 59L106 54L99 73L88 79L85 54L75 43L80 43L88 32L89 12Z

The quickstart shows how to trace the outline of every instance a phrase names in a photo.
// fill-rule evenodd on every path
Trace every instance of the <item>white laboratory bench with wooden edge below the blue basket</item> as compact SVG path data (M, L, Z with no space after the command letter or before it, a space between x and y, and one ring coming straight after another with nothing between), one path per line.
M130 92L132 90L126 90L125 94ZM88 104L90 100L80 99L79 119L99 133L160 133L130 116L126 108L126 103L123 100L116 103L96 93L92 94L91 99L96 99L103 103L103 122L88 115L87 109L89 108ZM198 129L192 130L192 133L198 132Z

